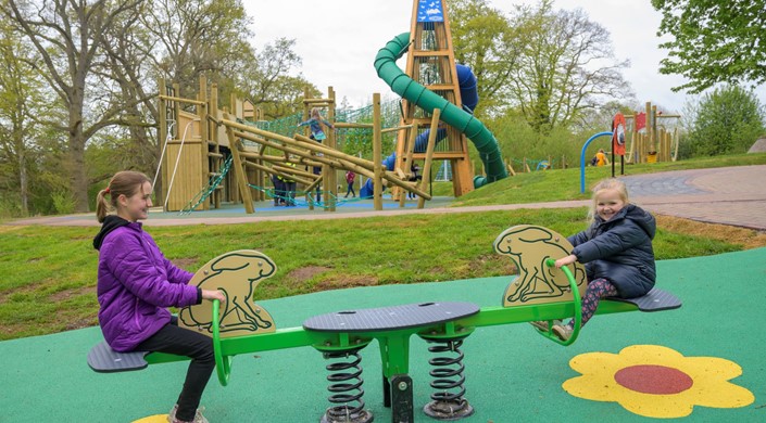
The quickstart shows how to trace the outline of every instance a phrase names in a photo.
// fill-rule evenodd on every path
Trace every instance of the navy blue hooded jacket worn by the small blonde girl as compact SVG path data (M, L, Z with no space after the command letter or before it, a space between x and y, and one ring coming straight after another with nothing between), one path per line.
M656 221L633 204L623 207L612 219L595 221L587 230L568 238L572 254L586 265L588 281L608 280L621 298L646 294L656 280L652 239Z

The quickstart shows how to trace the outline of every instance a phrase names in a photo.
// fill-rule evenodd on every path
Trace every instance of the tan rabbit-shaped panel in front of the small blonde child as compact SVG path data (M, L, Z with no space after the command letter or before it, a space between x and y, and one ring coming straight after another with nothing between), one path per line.
M498 235L494 251L511 256L518 267L518 278L505 290L503 307L572 302L572 290L564 271L545 265L549 258L556 260L566 257L572 249L566 238L543 227L519 225ZM580 296L585 295L588 287L585 267L575 262L568 268Z

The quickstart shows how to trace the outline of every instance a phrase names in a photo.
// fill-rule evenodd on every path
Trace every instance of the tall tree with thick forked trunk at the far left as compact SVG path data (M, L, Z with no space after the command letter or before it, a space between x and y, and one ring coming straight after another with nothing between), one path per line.
M100 87L88 86L92 65L101 53L103 34L117 16L135 8L141 0L111 2L106 0L42 0L23 4L7 0L2 12L18 25L41 57L41 73L67 110L65 125L58 124L67 133L67 170L70 193L75 211L88 211L88 178L85 163L86 142L100 129L113 125L118 108L99 110L96 104ZM91 90L92 87L92 90ZM86 99L95 95L95 102ZM93 106L93 107L91 107ZM99 113L101 112L101 113Z

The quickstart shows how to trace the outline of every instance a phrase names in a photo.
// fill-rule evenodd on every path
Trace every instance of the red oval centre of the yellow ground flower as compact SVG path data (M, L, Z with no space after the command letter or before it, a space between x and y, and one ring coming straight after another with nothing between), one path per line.
M689 389L694 381L678 369L664 366L631 366L620 369L614 380L628 389L642 394L680 394Z

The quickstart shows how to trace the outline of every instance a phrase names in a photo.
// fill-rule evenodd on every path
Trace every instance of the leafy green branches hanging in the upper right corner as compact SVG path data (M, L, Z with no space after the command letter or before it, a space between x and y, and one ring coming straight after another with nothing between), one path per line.
M674 91L700 93L718 82L766 82L766 0L652 0L662 12L657 36L668 57L660 72L689 82Z

